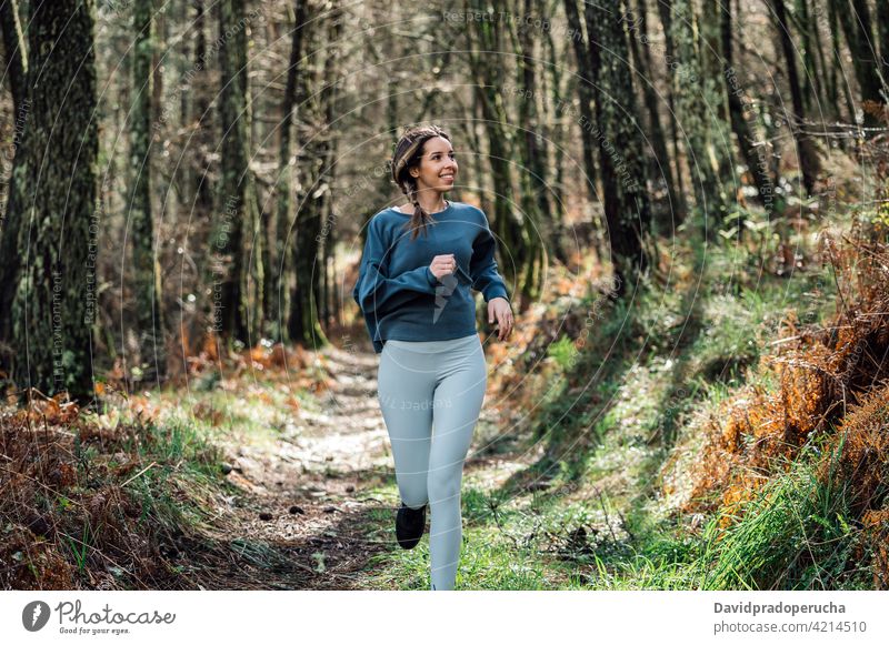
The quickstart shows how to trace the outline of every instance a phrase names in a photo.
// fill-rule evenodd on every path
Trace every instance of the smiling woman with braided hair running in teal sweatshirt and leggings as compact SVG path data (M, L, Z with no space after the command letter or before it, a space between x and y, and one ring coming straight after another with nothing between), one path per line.
M436 125L408 129L391 170L410 204L371 218L352 296L380 354L378 400L401 496L396 536L413 548L429 506L431 588L446 591L460 560L463 462L488 383L472 290L499 340L513 315L486 214L444 200L458 172L450 137Z

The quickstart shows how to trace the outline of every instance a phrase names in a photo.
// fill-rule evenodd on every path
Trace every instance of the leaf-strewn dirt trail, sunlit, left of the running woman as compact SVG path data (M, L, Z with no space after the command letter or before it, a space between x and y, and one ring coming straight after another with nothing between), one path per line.
M372 353L324 347L334 380L270 446L233 446L222 533L232 566L213 588L353 588L389 535L368 538L362 525L387 503L364 490L389 475L388 435L376 399ZM234 537L232 537L234 536ZM216 551L216 550L214 550ZM220 587L220 585L224 585Z

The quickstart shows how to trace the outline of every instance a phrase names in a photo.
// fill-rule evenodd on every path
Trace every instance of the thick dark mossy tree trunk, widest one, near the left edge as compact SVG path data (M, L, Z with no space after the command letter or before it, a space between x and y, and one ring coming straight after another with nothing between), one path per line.
M31 7L31 109L24 131L33 201L12 306L13 379L43 394L92 396L96 313L96 121L93 0ZM38 185L37 182L40 182Z

